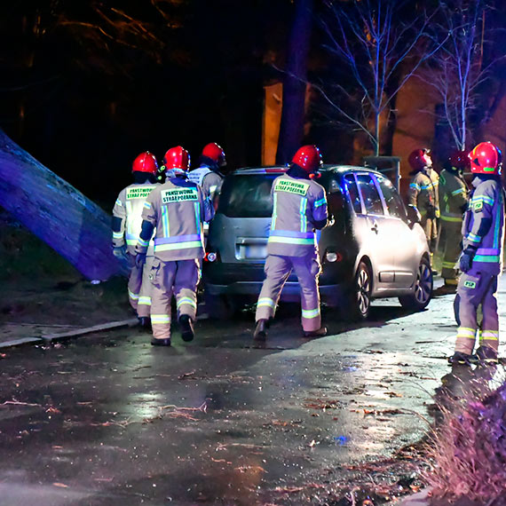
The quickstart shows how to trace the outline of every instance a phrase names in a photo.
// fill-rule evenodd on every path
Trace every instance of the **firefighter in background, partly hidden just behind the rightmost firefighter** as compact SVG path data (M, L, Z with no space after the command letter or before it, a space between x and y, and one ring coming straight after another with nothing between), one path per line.
M443 270L445 289L456 289L456 263L461 254L463 213L467 210L468 188L463 178L463 170L469 168L470 161L466 151L456 151L445 163L439 174L439 203L441 206L441 229L445 238Z

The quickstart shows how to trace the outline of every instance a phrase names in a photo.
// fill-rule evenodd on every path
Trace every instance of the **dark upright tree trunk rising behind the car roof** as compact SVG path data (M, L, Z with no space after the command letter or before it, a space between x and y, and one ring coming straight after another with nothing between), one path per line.
M281 128L276 153L278 163L291 160L304 134L304 100L311 28L312 0L296 0L283 81Z

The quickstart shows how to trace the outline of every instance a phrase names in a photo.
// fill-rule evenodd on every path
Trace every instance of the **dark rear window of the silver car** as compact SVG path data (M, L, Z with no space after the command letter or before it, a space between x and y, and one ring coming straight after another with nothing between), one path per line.
M280 174L235 174L225 178L218 212L228 217L271 217L271 186Z

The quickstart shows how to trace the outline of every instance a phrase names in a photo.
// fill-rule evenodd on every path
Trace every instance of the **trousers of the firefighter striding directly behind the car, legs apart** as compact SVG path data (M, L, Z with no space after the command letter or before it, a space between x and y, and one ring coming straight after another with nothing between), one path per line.
M276 305L290 273L295 271L300 286L302 328L305 331L321 327L320 293L318 278L320 260L314 252L306 257L280 257L269 255L265 260L265 281L257 303L255 320L273 318Z

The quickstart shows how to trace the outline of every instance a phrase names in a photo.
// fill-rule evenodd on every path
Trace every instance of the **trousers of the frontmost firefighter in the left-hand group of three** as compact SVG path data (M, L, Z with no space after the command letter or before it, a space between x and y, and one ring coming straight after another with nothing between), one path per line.
M187 314L195 320L197 313L197 285L201 279L201 265L197 258L163 262L154 258L150 274L151 326L156 339L170 337L172 296L176 297L178 319Z

